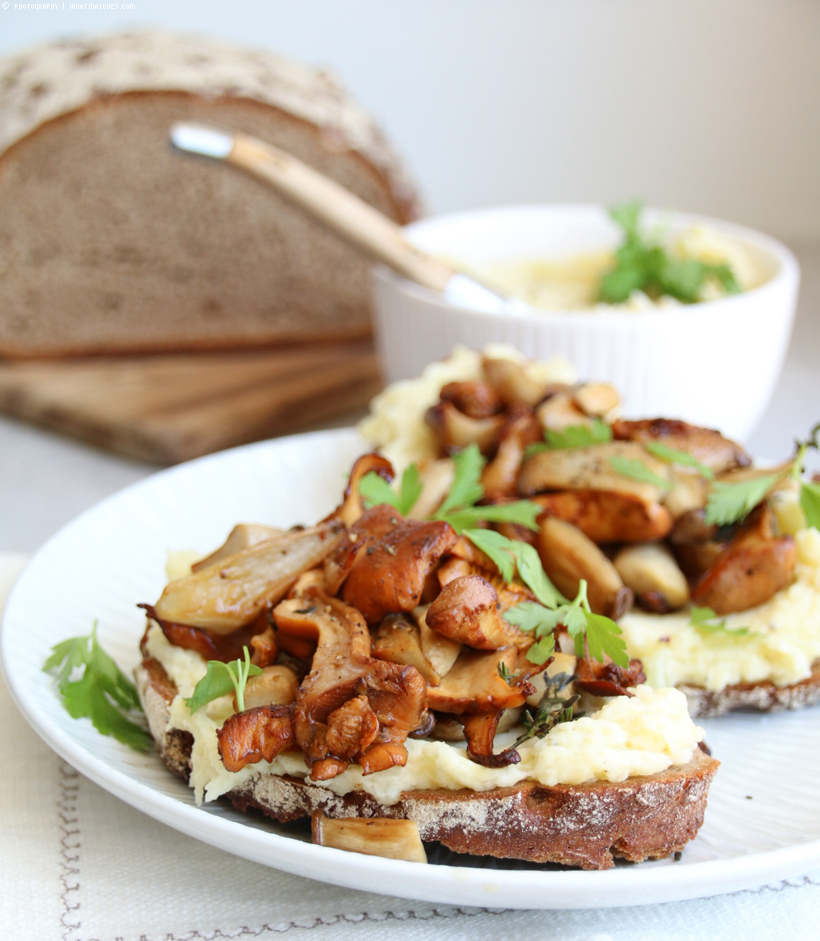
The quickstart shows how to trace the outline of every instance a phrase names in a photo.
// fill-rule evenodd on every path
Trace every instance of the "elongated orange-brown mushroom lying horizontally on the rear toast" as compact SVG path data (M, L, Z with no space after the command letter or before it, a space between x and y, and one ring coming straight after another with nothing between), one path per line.
M648 542L663 539L672 516L660 503L631 493L559 490L532 498L550 516L577 526L593 542Z

